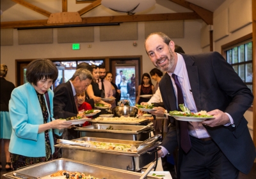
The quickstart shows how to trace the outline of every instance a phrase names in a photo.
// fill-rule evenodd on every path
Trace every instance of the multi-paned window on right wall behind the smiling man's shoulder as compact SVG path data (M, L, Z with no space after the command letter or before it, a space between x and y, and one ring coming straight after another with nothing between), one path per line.
M243 82L252 90L253 88L253 64L252 64L252 40L237 43L224 50L227 62L232 65Z

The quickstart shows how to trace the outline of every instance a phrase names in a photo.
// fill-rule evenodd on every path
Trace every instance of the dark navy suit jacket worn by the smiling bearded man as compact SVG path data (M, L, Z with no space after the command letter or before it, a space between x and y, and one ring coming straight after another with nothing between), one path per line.
M205 127L228 160L241 172L249 173L255 159L255 146L243 114L251 106L253 95L241 78L218 52L182 54L198 111L220 109L232 116L236 127ZM177 110L170 76L166 73L159 83L164 107ZM171 87L171 88L170 88ZM171 89L171 90L170 90ZM179 121L170 118L171 127L163 146L172 153L180 149ZM180 153L179 153L180 154ZM180 155L179 155L180 156ZM178 162L178 170L180 164Z

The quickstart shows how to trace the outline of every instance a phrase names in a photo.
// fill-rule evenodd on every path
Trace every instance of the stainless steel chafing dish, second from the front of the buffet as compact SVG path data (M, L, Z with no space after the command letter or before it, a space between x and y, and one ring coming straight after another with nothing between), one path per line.
M126 141L118 139L104 139L97 137L81 137L72 141L100 141L104 143L136 144L138 141ZM88 148L79 145L56 144L61 148L62 157L100 166L114 167L117 169L127 169L139 171L143 167L157 159L157 150L160 148L158 141L145 144L137 152L121 152L115 150L102 150L98 148ZM157 161L157 160L156 160ZM157 164L156 164L157 165Z

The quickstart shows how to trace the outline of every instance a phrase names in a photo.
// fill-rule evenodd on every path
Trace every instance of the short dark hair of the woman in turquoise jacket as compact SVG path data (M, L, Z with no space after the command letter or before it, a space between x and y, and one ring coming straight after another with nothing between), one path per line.
M26 70L26 79L31 84L36 85L40 79L52 79L53 82L58 78L58 69L50 59L35 59L29 63Z

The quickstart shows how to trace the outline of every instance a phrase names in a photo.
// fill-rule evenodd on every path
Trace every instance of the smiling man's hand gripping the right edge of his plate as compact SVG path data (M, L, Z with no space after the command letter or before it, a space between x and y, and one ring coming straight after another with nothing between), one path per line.
M225 125L230 122L228 115L220 111L219 109L215 109L213 111L207 112L209 115L214 116L213 119L205 120L202 122L203 125L207 125L209 127L216 127L220 125Z

